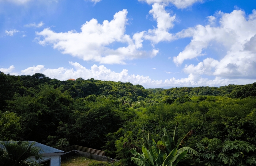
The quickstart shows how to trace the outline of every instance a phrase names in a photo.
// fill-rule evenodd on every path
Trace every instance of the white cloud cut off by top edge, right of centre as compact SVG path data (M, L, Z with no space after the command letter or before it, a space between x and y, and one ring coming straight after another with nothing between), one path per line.
M203 2L203 0L139 0L139 1L146 1L148 4L153 4L153 3L169 4L169 3L171 3L180 9L187 8L197 2Z

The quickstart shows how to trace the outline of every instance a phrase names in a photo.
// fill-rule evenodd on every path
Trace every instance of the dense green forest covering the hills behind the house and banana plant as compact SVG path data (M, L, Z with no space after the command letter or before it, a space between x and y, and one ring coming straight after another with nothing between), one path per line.
M145 89L0 72L0 135L6 138L95 148L133 165L124 143L142 147L144 132L162 140L163 128L172 136L176 124L179 140L193 131L185 146L201 153L194 164L256 165L256 83Z

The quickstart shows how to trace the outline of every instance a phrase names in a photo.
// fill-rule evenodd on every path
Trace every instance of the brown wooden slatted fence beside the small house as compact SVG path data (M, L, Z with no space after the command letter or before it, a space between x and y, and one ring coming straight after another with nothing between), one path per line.
M62 148L62 147L56 147L56 148L59 150L62 150L64 152L69 152L72 150L80 150L80 151L91 153L91 154L105 156L104 151L96 150L96 149L92 149L92 148L88 148L88 147L83 147L83 146L78 146L78 145L72 145L72 146L68 146L68 147L64 147L64 148Z

